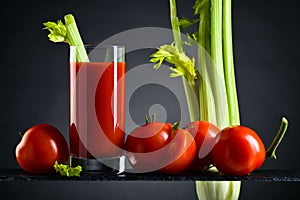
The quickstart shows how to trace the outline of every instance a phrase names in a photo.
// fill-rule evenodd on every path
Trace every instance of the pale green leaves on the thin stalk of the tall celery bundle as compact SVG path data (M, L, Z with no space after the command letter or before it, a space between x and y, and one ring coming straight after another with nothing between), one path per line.
M197 73L194 58L191 59L184 52L179 52L174 44L166 44L160 46L158 50L151 55L150 62L156 63L154 69L159 69L164 60L175 65L175 68L170 67L172 71L170 77L184 76L190 84L195 84Z

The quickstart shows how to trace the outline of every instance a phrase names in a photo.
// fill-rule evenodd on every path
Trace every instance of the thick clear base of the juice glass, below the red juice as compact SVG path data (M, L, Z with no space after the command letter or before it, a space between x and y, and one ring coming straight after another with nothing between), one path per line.
M83 172L114 172L125 171L125 156L111 158L78 158L72 157L72 166L82 167Z

